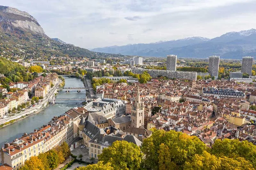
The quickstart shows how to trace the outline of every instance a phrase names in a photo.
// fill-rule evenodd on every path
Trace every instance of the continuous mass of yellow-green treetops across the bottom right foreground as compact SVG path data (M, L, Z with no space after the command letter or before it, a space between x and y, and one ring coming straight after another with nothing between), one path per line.
M210 149L197 137L173 130L154 130L151 137L144 139L142 153L138 151L140 148L131 143L116 141L99 155L103 162L88 169L104 169L102 163L109 163L108 168L126 170L254 170L256 167L256 146L248 141L217 139Z

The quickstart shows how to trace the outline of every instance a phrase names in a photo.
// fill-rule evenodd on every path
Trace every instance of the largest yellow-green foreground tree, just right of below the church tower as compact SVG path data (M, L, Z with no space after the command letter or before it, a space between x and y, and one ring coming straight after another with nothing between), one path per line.
M205 148L205 144L195 136L188 136L173 130L169 132L155 130L150 137L144 139L141 151L145 154L143 164L146 169L159 169L163 165L167 167L168 163L179 169L195 154L203 153ZM166 153L162 154L160 149L164 149ZM160 160L164 156L168 158Z

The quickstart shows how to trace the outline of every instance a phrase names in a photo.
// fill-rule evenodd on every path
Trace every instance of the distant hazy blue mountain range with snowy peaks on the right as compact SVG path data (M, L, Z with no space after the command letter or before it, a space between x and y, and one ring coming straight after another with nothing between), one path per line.
M256 30L229 32L213 39L190 37L149 44L94 48L92 51L155 57L175 54L178 57L206 58L218 55L221 58L241 59L243 56L256 55Z

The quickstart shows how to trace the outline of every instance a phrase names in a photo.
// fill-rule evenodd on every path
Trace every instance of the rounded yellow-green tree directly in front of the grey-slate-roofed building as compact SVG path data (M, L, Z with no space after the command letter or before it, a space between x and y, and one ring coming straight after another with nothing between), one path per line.
M142 153L136 144L115 141L110 147L103 149L98 157L104 164L111 163L114 169L136 170L140 169Z

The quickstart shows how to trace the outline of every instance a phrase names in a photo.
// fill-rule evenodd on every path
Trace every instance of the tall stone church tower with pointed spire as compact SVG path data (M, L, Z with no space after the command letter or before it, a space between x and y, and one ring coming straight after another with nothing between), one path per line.
M140 101L140 91L139 86L137 90L137 96L131 109L131 127L139 128L144 127L144 105Z

